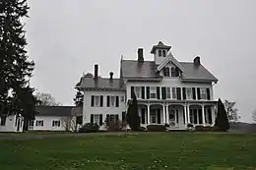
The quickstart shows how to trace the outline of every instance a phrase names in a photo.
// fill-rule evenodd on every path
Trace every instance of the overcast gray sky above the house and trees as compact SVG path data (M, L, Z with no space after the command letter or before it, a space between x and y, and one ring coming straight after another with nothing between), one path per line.
M29 0L32 86L73 104L74 85L99 65L99 75L119 76L120 56L146 60L159 40L179 61L196 55L220 81L215 97L237 102L242 121L256 108L254 0Z

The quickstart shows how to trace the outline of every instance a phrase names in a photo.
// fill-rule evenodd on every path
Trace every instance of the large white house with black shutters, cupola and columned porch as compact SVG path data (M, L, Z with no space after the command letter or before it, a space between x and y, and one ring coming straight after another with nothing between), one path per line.
M143 49L137 60L120 61L120 78L84 77L83 123L102 125L104 120L124 120L128 102L135 92L141 126L169 124L170 129L184 130L191 123L213 126L213 85L218 79L195 57L192 62L179 62L170 52L171 46L161 41L154 45L153 61L145 61Z

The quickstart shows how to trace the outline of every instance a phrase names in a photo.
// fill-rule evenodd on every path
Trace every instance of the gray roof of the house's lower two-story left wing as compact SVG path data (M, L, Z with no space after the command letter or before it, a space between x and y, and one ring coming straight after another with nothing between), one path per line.
M81 83L81 88L86 89L109 89L109 90L121 90L120 87L120 79L112 79L110 81L109 78L97 78L95 80L94 78L84 78Z

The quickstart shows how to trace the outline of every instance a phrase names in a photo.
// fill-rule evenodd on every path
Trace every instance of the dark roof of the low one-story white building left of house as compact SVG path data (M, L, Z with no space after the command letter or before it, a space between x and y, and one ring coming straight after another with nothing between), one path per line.
M38 112L35 116L71 116L71 110L75 106L36 106Z

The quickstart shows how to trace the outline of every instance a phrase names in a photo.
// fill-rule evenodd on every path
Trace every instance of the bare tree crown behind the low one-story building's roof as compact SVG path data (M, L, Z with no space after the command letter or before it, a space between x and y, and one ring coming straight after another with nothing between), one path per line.
M35 93L35 98L38 100L38 105L43 105L43 106L60 106L62 105L60 102L56 102L55 98L51 96L49 93L44 93L44 92L36 92Z

